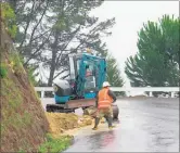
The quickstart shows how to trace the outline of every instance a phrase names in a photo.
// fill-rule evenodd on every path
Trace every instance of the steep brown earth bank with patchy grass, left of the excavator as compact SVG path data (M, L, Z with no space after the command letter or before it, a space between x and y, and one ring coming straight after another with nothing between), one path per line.
M11 38L2 31L1 152L35 152L46 141L49 124Z

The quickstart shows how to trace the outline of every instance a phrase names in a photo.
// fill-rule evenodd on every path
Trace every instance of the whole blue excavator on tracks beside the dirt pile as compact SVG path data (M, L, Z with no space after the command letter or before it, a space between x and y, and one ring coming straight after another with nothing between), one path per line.
M91 53L69 54L69 79L54 82L55 104L47 104L47 112L70 113L76 109L97 106L95 97L106 77L106 61ZM113 117L118 107L113 104Z

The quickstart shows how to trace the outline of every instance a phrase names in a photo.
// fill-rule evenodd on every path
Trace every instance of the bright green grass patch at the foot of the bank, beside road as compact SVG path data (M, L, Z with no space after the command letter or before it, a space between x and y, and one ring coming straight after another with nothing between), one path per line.
M47 135L47 141L39 146L40 153L60 153L66 150L72 143L70 136L62 136L61 138L53 138L50 133Z

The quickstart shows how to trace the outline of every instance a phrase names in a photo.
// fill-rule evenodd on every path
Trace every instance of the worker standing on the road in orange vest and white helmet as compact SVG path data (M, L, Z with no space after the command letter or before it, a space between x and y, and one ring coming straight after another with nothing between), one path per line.
M102 117L105 117L108 123L108 128L113 128L113 110L112 103L116 101L116 95L110 90L108 81L103 82L103 88L99 91L97 95L97 106L98 113L95 116L95 125L92 128L93 130L98 129L98 125Z

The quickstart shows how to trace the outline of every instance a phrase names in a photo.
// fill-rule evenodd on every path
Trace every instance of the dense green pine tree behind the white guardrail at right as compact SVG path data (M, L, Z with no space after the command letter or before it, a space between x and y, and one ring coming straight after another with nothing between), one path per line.
M179 86L179 18L168 15L143 25L139 52L126 61L125 67L133 86Z

